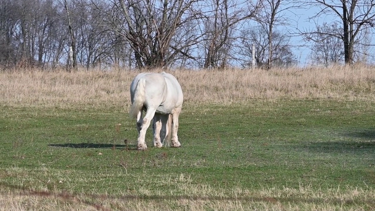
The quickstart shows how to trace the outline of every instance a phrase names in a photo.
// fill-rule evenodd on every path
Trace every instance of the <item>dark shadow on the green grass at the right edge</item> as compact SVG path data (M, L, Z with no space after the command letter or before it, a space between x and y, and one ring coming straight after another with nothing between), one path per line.
M312 152L352 154L368 154L375 150L375 128L341 131L329 136L334 136L335 140L310 142L304 148Z

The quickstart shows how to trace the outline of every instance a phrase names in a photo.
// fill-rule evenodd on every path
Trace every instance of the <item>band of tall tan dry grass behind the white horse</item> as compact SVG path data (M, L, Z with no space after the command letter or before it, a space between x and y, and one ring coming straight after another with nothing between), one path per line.
M153 70L162 72L162 69ZM375 68L177 70L185 103L246 103L251 99L337 99L373 101ZM137 71L0 72L0 103L15 107L108 107L130 104L129 86Z

